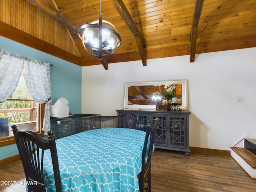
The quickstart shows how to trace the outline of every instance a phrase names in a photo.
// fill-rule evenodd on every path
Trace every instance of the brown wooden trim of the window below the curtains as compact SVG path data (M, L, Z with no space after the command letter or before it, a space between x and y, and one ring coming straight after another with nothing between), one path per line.
M38 131L36 131L35 133L39 134L40 136L44 136L44 131L42 130L43 119L44 119L44 106L45 104L38 104L38 119L37 119ZM0 138L0 147L11 145L11 144L15 144L14 136Z

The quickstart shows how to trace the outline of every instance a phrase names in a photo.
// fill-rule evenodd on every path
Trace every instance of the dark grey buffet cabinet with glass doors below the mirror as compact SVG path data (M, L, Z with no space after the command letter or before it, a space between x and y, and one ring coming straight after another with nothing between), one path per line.
M155 148L183 151L186 156L189 155L189 111L116 110L117 114L127 111L139 113L138 129L143 131L146 130L148 120L152 122L158 118Z

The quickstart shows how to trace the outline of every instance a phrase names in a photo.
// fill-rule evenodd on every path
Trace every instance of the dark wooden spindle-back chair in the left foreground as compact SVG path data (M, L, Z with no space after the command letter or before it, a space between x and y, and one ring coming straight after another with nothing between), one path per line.
M16 125L12 125L12 131L23 164L28 192L46 192L43 175L44 150L51 152L56 192L62 192L53 131L48 131L48 140L29 130L18 131Z

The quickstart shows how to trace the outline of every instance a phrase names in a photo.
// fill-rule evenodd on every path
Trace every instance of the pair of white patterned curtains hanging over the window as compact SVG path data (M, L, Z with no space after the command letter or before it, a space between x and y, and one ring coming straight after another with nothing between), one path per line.
M51 84L50 64L0 50L0 102L8 99L16 89L22 65L25 65L26 87L39 104L45 103L43 129L50 130Z

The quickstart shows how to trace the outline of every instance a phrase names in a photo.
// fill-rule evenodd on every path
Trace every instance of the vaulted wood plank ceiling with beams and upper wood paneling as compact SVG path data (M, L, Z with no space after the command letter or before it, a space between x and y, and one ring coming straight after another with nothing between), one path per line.
M114 62L141 60L146 66L147 59L180 55L195 62L196 54L256 46L255 0L102 0L103 19L115 25L122 44L100 61L77 36L78 28L97 20L99 12L100 0L1 0L0 35L80 66L106 69ZM36 22L53 27L43 33ZM27 25L34 29L26 30ZM58 41L47 40L56 32Z

